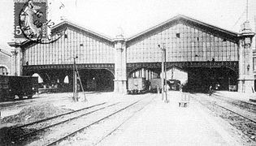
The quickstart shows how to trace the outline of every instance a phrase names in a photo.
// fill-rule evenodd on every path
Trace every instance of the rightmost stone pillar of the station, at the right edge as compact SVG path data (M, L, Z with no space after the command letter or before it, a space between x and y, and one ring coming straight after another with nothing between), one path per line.
M251 48L254 32L249 21L241 25L239 41L238 92L254 92L253 50Z

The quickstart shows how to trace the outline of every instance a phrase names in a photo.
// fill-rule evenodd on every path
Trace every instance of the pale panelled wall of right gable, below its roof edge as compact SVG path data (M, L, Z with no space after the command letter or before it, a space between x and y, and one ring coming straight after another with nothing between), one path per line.
M127 62L161 62L163 43L167 62L238 61L237 42L180 22L128 46Z

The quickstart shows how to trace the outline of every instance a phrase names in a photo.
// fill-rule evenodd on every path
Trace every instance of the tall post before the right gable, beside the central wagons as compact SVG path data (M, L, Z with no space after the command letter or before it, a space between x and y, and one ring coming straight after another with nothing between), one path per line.
M163 47L158 45L158 48L162 50L162 100L167 102L167 71L166 71L166 48L163 43Z

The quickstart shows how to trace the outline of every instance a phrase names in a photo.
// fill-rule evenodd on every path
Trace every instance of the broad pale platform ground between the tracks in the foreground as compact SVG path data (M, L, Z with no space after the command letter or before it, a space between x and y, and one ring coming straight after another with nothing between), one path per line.
M137 118L120 130L122 132L102 141L101 145L241 145L196 101L190 100L187 107L179 107L180 92L168 94L169 103L164 103L161 95L154 98Z

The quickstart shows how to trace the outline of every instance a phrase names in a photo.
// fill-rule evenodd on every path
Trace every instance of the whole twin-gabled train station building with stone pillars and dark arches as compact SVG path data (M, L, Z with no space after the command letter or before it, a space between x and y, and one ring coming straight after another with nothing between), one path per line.
M62 29L65 34L50 44L10 42L11 74L38 74L47 86L58 84L67 91L72 88L76 61L85 90L126 93L129 77L161 76L166 49L167 78L176 78L173 71L183 72L188 90L219 84L222 90L235 87L238 92L254 92L254 32L249 22L238 33L176 15L129 38L123 34L110 38L67 20L52 32Z

